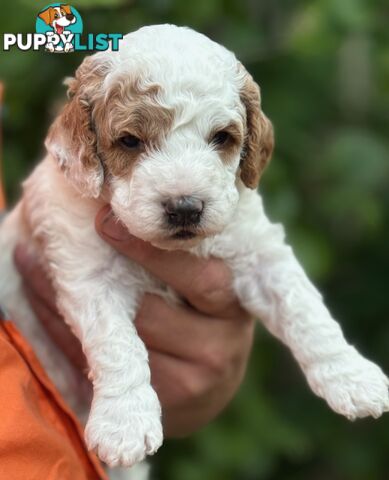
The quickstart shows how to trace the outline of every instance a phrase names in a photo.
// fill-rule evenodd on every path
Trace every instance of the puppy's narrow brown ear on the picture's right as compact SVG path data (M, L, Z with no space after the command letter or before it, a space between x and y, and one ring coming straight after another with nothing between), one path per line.
M246 187L255 189L270 161L274 148L274 132L270 120L261 110L259 87L246 71L240 98L246 109L246 139L240 164L240 178Z

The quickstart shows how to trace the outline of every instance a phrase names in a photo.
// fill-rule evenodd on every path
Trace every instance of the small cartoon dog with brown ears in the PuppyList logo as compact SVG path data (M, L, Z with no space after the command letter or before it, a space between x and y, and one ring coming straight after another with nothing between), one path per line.
M53 33L59 36L71 33L66 30L66 27L76 23L77 21L75 15L72 13L70 5L65 4L61 4L58 7L47 7L46 10L43 10L38 14L38 17L41 18L46 25L50 25L50 27L53 29ZM73 45L66 42L64 47L61 45L56 45L54 47L52 43L48 43L47 49L51 52L69 52L73 50Z

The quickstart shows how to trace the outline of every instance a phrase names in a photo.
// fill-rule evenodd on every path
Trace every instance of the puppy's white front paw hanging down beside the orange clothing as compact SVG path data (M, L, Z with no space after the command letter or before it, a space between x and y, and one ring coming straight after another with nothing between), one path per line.
M123 397L98 397L85 428L89 450L110 467L130 467L162 444L161 408L150 385Z

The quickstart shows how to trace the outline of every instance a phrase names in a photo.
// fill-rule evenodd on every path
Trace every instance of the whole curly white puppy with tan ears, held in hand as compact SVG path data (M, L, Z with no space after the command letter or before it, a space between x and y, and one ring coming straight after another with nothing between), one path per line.
M333 410L349 419L388 410L387 377L346 342L282 226L266 217L256 187L273 130L235 56L188 28L145 27L119 52L87 57L68 86L48 155L1 228L0 302L75 406L82 380L34 318L13 266L24 239L88 360L88 447L111 466L129 466L161 445L161 408L133 320L145 292L179 301L96 234L106 203L156 247L222 258L241 304L291 349Z

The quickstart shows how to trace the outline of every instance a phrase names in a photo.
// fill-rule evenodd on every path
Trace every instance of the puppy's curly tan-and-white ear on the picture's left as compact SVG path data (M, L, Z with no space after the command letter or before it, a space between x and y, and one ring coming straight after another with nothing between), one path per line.
M84 60L74 79L67 80L70 100L51 125L45 145L72 185L83 196L97 198L104 167L98 154L92 92L98 90L101 79L91 68L91 58Z

